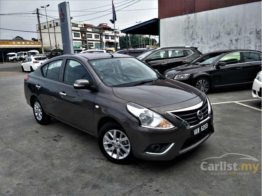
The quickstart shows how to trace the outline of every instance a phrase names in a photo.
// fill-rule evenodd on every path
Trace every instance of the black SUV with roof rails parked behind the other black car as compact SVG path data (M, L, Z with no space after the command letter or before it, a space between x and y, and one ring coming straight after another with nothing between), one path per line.
M200 55L202 53L196 47L168 46L152 48L137 58L162 74L165 70L187 64Z

